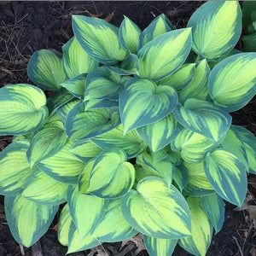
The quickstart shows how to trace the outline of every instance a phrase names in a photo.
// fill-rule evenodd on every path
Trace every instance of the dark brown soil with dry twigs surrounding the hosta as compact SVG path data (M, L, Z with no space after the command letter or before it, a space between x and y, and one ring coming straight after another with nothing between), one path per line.
M32 83L26 75L29 57L38 49L56 49L73 36L71 15L96 15L108 18L119 26L123 15L135 21L142 29L161 13L177 28L186 26L189 16L202 2L0 2L0 87L5 84ZM240 49L241 44L236 48ZM256 135L256 98L240 111L232 113L236 125L247 127ZM11 142L11 137L0 137L0 150ZM256 177L248 177L247 200L242 209L226 203L224 228L213 236L208 256L256 255ZM54 226L54 224L52 225ZM103 244L94 250L71 255L148 255L140 237L127 241ZM0 197L0 256L45 255L61 256L67 253L57 241L55 230L49 230L32 248L23 248L9 232L4 217L3 196ZM174 255L190 255L177 247Z

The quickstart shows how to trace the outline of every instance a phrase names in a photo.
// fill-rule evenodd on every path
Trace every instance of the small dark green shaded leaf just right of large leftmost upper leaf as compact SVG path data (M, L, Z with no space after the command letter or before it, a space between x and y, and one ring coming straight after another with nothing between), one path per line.
M47 101L50 116L54 114L58 108L71 102L75 97L66 89L62 88L55 96L50 96Z

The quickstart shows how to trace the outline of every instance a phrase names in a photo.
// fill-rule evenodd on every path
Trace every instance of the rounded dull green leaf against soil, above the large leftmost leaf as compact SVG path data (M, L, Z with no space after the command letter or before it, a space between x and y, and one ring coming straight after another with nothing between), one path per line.
M44 90L60 90L66 79L61 55L49 49L35 51L27 63L28 77Z

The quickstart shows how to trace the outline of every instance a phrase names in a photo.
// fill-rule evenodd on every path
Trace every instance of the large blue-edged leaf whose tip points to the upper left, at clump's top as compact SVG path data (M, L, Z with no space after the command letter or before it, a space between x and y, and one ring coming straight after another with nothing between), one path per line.
M119 29L106 20L72 15L72 27L79 44L93 59L105 65L123 61L126 50L119 44Z

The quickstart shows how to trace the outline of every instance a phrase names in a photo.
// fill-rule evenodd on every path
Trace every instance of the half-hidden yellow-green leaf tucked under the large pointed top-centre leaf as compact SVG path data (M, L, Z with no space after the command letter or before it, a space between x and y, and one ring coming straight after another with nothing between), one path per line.
M186 63L179 67L175 73L162 79L158 84L171 85L175 90L187 87L195 77L195 63Z

